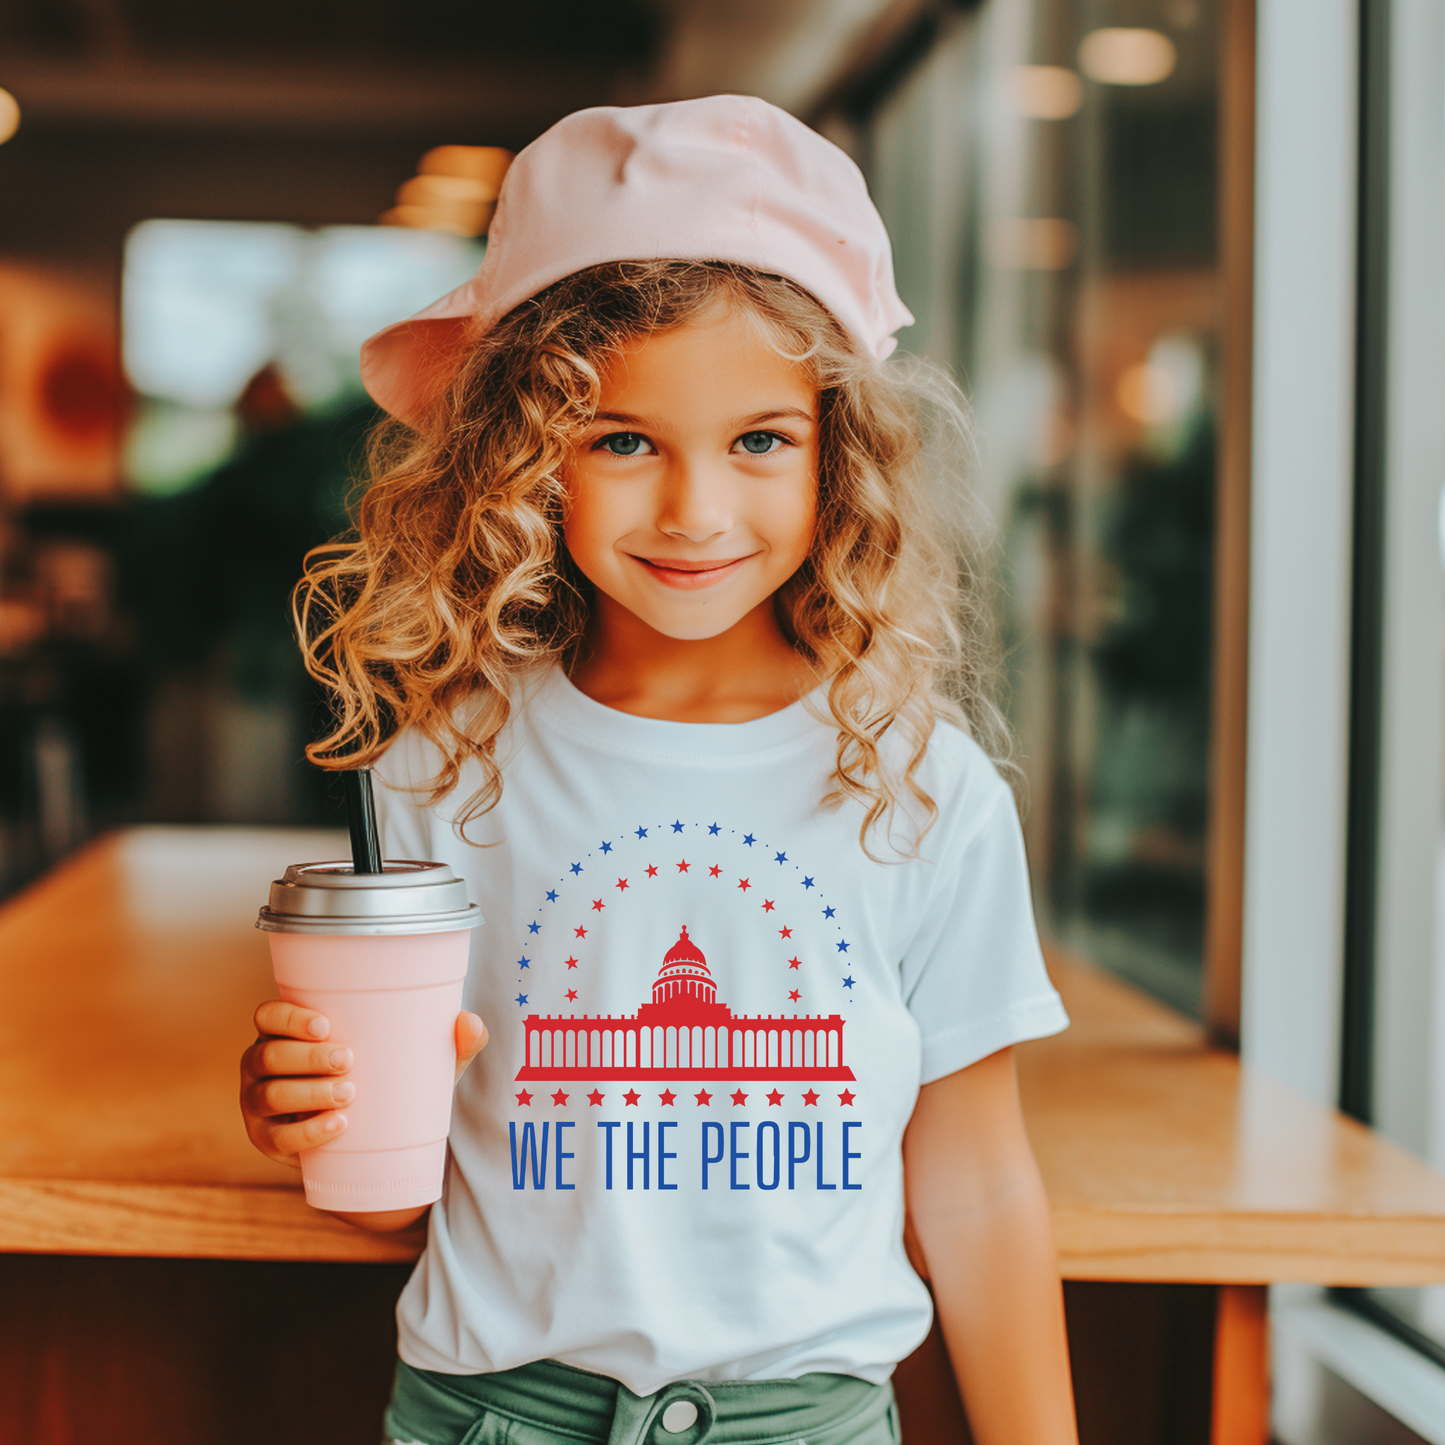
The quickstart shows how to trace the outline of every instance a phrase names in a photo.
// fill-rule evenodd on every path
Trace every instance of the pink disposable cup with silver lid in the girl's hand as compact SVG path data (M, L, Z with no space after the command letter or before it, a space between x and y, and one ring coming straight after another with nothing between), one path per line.
M471 929L467 884L444 863L301 863L270 889L282 998L331 1020L354 1056L347 1129L303 1150L306 1202L406 1209L441 1198Z

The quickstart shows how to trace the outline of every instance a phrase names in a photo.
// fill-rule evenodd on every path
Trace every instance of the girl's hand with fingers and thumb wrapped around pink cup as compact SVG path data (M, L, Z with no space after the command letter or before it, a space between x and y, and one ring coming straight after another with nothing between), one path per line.
M314 1009L267 998L256 1010L256 1042L241 1055L241 1118L267 1159L301 1168L298 1155L347 1127L341 1108L355 1095L345 1078L351 1051L332 1043L331 1020ZM487 1046L487 1026L457 1016L457 1078Z

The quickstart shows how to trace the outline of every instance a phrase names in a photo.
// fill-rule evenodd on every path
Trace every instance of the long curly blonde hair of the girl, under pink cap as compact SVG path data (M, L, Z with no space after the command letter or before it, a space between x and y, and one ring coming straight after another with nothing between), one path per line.
M601 376L629 342L718 305L750 318L818 389L816 530L775 605L827 682L838 741L824 802L863 803L867 848L880 821L892 834L906 792L923 809L920 838L936 806L915 775L938 718L996 757L1006 751L981 569L926 478L925 441L932 454L971 454L957 389L925 363L866 355L779 276L614 262L556 282L475 337L419 425L373 434L354 530L306 555L292 600L306 668L334 705L311 762L368 766L410 727L442 757L420 789L429 803L474 759L483 782L457 827L496 805L496 741L516 682L569 668L590 616L591 584L562 542L564 471ZM886 734L902 740L902 766L886 762Z

